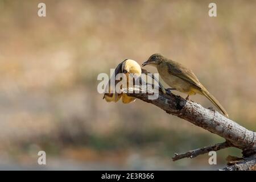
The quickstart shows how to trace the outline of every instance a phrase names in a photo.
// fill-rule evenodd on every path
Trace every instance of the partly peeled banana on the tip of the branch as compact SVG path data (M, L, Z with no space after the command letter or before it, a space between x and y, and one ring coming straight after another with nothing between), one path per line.
M117 76L118 73L125 73L125 75L127 77L127 85L129 85L129 78L128 78L129 73L133 73L135 78L139 78L142 73L147 75L150 72L146 71L146 69L142 69L141 66L136 61L131 60L131 59L126 59L126 60L122 61L121 63L119 63L117 65L117 67L115 68L115 72L112 75L113 80L115 80L115 76ZM156 82L158 82L162 92L166 93L164 86L159 82L159 80L157 78L155 78L154 75L150 75L150 76ZM109 80L109 85L110 85L110 80ZM119 81L120 80L115 80L115 85L117 85L117 83ZM107 89L108 89L108 91L107 91ZM117 102L122 98L123 104L129 104L130 102L134 102L136 100L135 97L127 96L127 94L125 94L125 93L117 93L117 92L111 93L110 91L112 89L114 89L114 88L112 88L112 86L106 86L106 88L105 88L105 94L103 96L103 99L105 99L107 102Z

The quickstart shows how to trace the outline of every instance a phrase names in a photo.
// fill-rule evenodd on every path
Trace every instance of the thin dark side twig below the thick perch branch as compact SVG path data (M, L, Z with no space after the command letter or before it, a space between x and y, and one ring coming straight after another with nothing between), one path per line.
M175 153L175 156L172 158L172 160L175 161L183 158L195 158L197 155L205 154L210 151L218 151L228 147L231 147L229 142L217 143L212 146L197 148L196 150L190 150L182 154Z

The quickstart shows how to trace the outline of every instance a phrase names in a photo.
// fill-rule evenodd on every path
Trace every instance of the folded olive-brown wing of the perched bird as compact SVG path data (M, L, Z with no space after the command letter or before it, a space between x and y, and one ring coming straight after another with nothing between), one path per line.
M176 77L179 77L185 81L188 81L189 83L201 89L201 84L198 78L190 69L185 68L183 65L176 63L174 61L172 61L172 63L166 62L166 64L168 66L168 73Z

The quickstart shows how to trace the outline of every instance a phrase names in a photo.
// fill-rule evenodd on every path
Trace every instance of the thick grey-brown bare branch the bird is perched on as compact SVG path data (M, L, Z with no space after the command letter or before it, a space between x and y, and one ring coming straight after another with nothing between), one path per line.
M134 88L123 89L122 91L128 96L136 97L144 102L158 106L160 109L165 110L166 113L185 119L226 140L224 143L188 151L184 154L176 154L173 158L174 160L185 157L191 158L191 156L193 158L197 155L205 154L209 150L217 151L230 146L240 148L244 157L256 154L256 133L238 125L238 123L226 118L214 109L207 109L196 102L185 100L172 93L164 94L160 90L158 98L150 100L148 96L154 93L153 90L139 88L137 85ZM250 164L256 164L254 158L250 160L252 161ZM247 161L246 164L249 164L249 162Z

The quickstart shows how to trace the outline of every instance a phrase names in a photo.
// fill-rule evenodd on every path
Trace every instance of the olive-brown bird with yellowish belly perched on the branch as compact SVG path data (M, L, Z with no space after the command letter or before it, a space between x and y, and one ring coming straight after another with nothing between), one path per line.
M156 67L159 75L167 85L179 92L188 94L186 100L188 100L191 95L201 94L207 97L208 100L220 109L226 117L229 117L224 107L215 97L213 97L212 94L208 92L203 84L200 83L191 69L186 68L184 65L177 63L176 61L167 59L160 53L154 53L151 55L148 60L142 64L142 67L145 65L152 65Z

